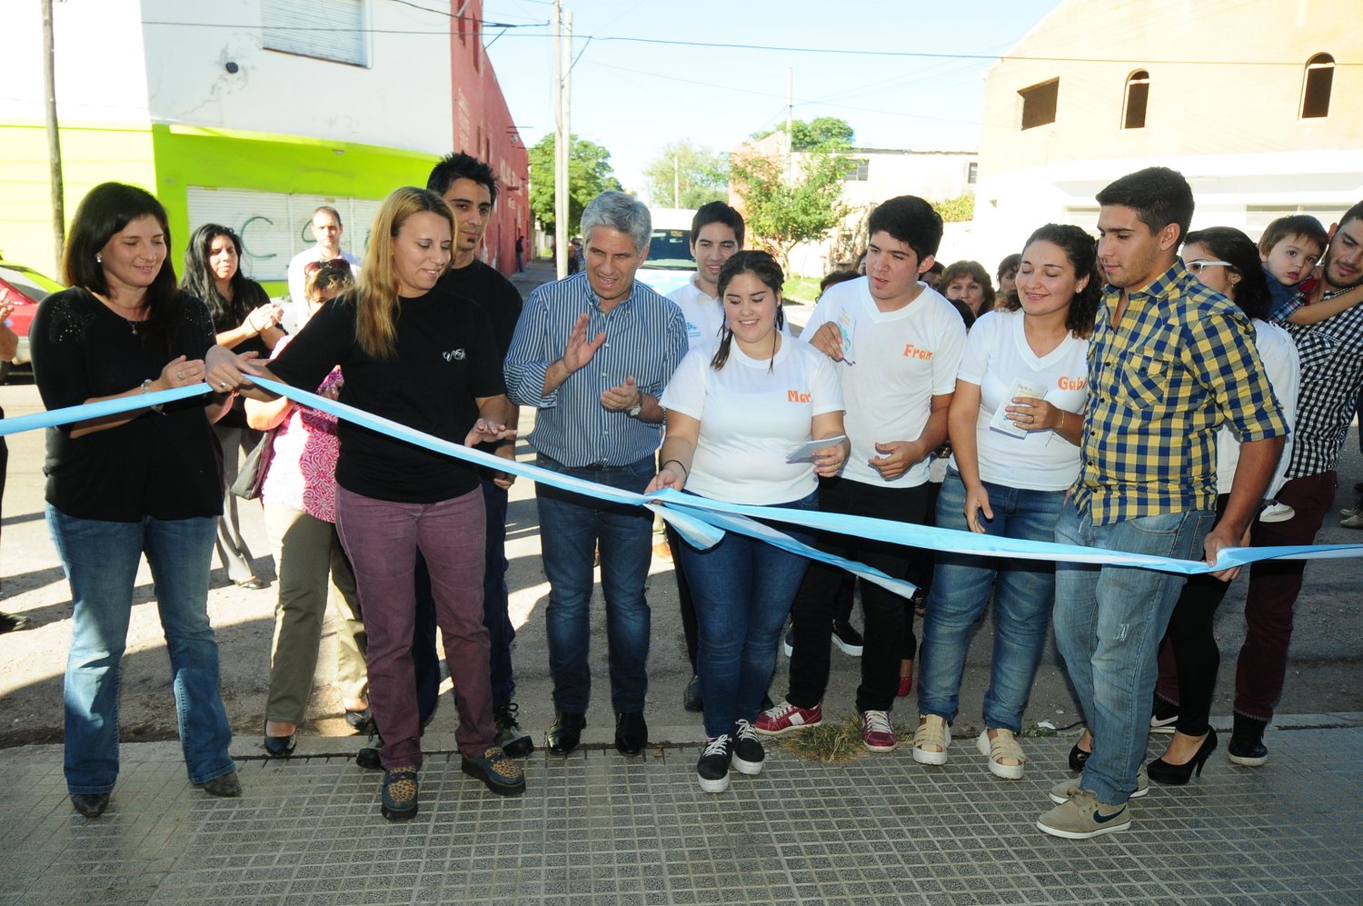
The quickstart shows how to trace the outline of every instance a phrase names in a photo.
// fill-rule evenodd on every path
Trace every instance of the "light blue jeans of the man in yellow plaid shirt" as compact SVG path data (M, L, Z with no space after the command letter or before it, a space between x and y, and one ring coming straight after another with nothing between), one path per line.
M1073 500L1060 507L1055 540L1103 550L1202 556L1216 512L1190 510L1094 526ZM1119 805L1135 792L1145 759L1160 639L1186 576L1137 567L1058 563L1055 642L1093 732L1084 789Z

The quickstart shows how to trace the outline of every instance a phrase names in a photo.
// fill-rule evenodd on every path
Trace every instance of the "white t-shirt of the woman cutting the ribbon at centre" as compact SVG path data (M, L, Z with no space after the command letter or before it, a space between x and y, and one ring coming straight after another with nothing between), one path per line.
M812 462L785 458L810 440L815 416L842 410L833 360L782 337L774 361L750 358L732 343L714 371L718 345L692 346L662 391L664 409L701 422L686 489L756 505L807 497L818 486Z

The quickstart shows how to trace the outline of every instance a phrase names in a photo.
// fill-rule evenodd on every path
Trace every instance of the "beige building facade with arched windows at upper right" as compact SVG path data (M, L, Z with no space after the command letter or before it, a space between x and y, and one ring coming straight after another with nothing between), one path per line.
M1193 228L1363 200L1363 3L1065 0L988 72L972 244L1018 251L1047 221L1089 229L1093 195L1182 172Z

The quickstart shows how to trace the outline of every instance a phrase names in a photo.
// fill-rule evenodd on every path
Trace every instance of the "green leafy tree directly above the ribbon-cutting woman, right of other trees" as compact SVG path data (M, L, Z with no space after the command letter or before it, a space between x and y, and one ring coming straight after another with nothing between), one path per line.
M829 234L848 208L842 203L845 154L819 147L796 154L789 168L781 158L739 154L731 178L743 199L748 234L763 240L789 268L791 249Z

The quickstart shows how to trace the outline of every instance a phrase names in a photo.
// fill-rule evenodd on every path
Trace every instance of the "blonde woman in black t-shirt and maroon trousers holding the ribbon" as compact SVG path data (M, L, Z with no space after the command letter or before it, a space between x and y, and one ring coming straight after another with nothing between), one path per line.
M436 287L450 266L454 214L428 189L390 195L369 232L358 289L333 300L269 368L209 360L219 390L249 373L312 390L339 365L341 402L443 440L474 446L515 432L487 315ZM245 391L269 398L259 390ZM354 565L368 631L369 708L383 737L382 812L417 813L421 728L412 669L417 550L427 560L454 680L463 771L500 794L525 790L495 744L483 625L484 514L478 471L459 459L342 421L337 530Z

